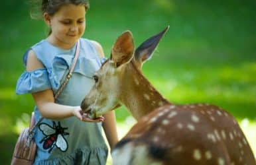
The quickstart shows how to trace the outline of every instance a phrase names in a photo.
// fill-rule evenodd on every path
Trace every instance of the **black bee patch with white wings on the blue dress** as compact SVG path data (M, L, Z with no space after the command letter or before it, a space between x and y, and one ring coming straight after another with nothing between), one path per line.
M48 150L50 153L54 147L57 147L62 152L66 152L68 150L68 143L64 137L64 135L69 135L69 133L65 132L67 127L61 127L60 121L58 121L58 125L54 121L52 121L52 126L47 123L40 123L39 129L45 135L45 137L40 141L42 143L42 148Z

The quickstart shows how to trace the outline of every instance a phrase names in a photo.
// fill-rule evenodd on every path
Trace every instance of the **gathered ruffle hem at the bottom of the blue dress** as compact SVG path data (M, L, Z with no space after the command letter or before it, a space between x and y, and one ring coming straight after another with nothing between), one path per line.
M107 148L78 149L72 154L60 156L59 158L39 160L34 165L56 165L56 164L93 164L105 165L107 158Z

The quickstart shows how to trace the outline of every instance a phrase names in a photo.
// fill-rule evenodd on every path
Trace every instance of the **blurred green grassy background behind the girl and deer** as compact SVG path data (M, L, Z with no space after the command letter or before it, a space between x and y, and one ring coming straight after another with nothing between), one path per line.
M28 1L0 5L0 162L10 164L19 131L29 123L30 94L15 86L25 69L23 53L45 38L42 20L29 16ZM143 72L173 103L208 102L233 114L256 153L256 1L137 0L90 1L85 38L101 43L108 57L117 36L131 30L135 44L160 32L162 38ZM116 111L123 133L134 120Z

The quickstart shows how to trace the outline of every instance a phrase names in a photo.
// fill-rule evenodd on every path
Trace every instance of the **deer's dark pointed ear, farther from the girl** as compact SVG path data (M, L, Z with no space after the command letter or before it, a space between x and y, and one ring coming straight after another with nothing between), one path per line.
M162 32L159 32L159 34L156 34L155 36L147 39L135 50L135 61L138 67L141 67L146 60L151 58L155 48L160 42L160 39L162 38L162 36L164 36L165 32L169 29L169 27L170 26L167 26L166 28L164 28L164 30L162 30Z

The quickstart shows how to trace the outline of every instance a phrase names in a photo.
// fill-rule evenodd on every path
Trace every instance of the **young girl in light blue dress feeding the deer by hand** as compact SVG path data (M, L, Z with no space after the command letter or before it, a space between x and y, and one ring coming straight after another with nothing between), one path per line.
M44 117L34 130L34 164L105 164L107 146L101 135L101 121L109 146L117 143L114 112L105 118L89 119L79 106L94 84L92 76L103 58L97 42L81 38L88 7L86 0L42 0L42 15L50 34L25 53L27 71L16 89L17 94L32 94L36 122ZM54 100L72 66L78 42L80 53L72 78Z

